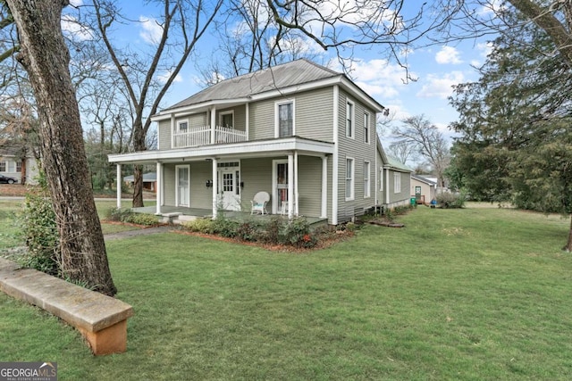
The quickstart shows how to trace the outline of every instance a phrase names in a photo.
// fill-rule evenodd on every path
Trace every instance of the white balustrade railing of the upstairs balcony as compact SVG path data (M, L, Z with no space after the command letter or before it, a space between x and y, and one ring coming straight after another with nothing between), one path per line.
M214 131L210 126L189 128L184 132L172 134L172 147L185 148L198 145L218 145L223 143L246 142L247 134L238 129L214 126Z

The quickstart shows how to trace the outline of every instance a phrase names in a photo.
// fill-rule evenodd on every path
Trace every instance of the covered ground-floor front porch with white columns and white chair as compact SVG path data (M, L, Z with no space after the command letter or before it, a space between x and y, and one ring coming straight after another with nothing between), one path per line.
M249 218L253 195L263 191L271 195L266 212L317 222L328 220L331 154L331 143L286 137L110 155L109 160L117 164L118 182L122 163L156 164L156 206L145 210L156 215L215 219L224 210L225 216Z

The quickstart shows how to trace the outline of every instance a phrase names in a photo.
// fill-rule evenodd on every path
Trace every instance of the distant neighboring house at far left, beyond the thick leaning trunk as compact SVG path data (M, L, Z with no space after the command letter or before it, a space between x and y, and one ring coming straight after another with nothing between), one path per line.
M22 154L20 147L0 147L0 174L17 178L18 184L35 184L38 164L33 154Z

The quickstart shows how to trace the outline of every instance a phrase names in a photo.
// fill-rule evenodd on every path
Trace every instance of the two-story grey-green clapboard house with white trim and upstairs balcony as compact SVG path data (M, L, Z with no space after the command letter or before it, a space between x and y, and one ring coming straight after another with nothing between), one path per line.
M383 110L346 75L298 60L223 80L156 113L157 150L109 161L118 174L122 164L156 164L157 214L164 206L213 217L250 211L264 191L270 213L337 225L408 203L411 171L388 160L375 132Z

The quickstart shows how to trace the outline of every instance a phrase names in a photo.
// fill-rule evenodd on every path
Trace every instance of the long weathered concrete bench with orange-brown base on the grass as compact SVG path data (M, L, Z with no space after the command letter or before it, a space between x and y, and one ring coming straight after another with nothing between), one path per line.
M125 302L3 258L0 290L76 327L95 355L127 350L127 319L133 309Z

